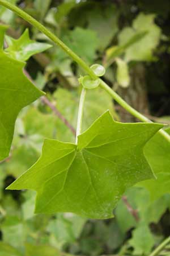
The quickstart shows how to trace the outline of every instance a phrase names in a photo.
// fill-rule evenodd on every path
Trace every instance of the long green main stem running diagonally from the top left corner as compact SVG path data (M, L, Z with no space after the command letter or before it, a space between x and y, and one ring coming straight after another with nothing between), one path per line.
M29 14L25 13L25 11L19 9L17 6L13 5L10 2L7 2L6 0L0 0L0 5L6 7L7 9L10 9L11 11L14 11L14 13L18 14L20 17L22 17L24 20L32 24L32 26L36 27L38 30L40 30L43 34L48 36L49 39L51 39L54 43L58 44L59 47L63 49L76 63L80 65L80 67L83 68L84 71L88 73L88 75L91 76L92 79L97 79L98 77L95 75L95 73L88 67L88 65L78 56L76 55L69 47L67 47L60 39L57 38L52 32L50 32L46 27L44 27L40 22L38 22L36 19L32 18ZM134 117L138 118L142 122L151 122L150 119L146 118L144 115L139 113L137 110L132 108L126 101L124 101L116 92L114 92L103 80L100 79L100 86L105 91L107 91L115 101L118 102L124 109L126 109L129 113L134 115ZM167 141L170 142L170 136L164 131L160 130L160 134L163 135Z

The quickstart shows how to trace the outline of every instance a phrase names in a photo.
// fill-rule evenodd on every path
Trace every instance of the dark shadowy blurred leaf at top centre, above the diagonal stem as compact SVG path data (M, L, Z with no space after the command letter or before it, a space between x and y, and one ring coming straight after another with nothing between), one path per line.
M99 1L80 1L69 14L69 26L87 27L95 31L99 39L97 49L102 52L118 31L119 13L117 6L111 3L103 5Z

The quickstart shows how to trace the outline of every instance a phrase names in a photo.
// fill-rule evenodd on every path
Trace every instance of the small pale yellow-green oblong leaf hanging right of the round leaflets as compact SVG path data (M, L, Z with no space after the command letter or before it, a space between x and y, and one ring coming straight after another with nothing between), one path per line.
M116 59L116 64L117 64L117 72L116 72L117 82L123 88L127 88L130 83L128 64L124 60L121 60L119 58Z

